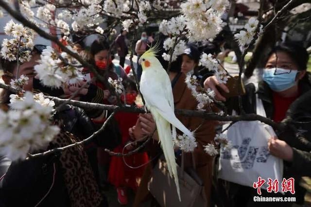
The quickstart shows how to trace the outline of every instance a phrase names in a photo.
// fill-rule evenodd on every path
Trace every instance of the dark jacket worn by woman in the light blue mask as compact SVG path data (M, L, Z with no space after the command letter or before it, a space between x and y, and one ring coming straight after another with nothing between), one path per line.
M293 162L284 161L283 177L295 179L295 197L296 203L303 204L305 190L299 186L301 176L311 176L311 74L307 72L305 77L299 81L299 89L301 95L291 104L288 109L286 119L282 122L286 123L284 131L277 131L276 135L279 139L286 141L294 150ZM245 86L246 93L242 96L242 106L245 113L256 113L256 94L261 99L264 106L267 118L272 119L274 114L273 91L265 82L259 82L258 91L256 91L254 84ZM228 113L232 109L239 112L237 98L231 98L226 102L228 106ZM294 126L294 127L293 127ZM295 128L298 129L295 130ZM281 182L281 181L279 181ZM240 190L233 190L236 193L241 193L242 188L247 188L246 191L253 191L249 187L241 187L236 184L231 184ZM245 193L245 192L242 192ZM254 194L257 195L257 194ZM254 196L251 195L251 196ZM263 196L274 196L273 193L268 193ZM277 193L275 196L281 196ZM293 196L291 194L286 196ZM239 195L237 195L239 197ZM245 194L244 198L247 197ZM240 198L242 199L242 198ZM253 199L253 197L251 197ZM239 203L241 206L241 203ZM238 205L238 206L239 206Z

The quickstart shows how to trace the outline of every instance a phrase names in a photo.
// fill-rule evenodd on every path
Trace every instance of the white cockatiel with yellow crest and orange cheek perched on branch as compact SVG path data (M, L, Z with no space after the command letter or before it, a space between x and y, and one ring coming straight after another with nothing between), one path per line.
M138 60L142 67L140 91L145 100L145 107L150 110L155 120L157 133L167 162L169 173L174 177L177 194L180 198L176 160L174 155L173 137L176 137L176 128L187 136L194 138L174 114L174 99L172 85L166 70L155 57L156 46L143 53ZM171 131L172 124L172 131Z

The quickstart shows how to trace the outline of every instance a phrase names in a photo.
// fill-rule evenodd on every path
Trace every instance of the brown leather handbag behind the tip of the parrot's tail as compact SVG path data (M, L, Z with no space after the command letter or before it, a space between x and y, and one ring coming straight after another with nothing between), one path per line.
M152 170L148 190L161 207L206 207L207 199L203 182L195 173L195 162L192 154L193 168L184 171L184 153L182 166L177 165L181 202L178 199L174 179L170 176L164 156L161 156Z

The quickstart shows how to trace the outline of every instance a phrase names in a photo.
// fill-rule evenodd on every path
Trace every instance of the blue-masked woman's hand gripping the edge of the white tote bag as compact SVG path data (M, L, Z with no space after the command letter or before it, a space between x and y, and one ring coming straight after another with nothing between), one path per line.
M283 140L277 139L276 137L270 138L268 149L271 155L284 159L285 161L293 161L293 148Z

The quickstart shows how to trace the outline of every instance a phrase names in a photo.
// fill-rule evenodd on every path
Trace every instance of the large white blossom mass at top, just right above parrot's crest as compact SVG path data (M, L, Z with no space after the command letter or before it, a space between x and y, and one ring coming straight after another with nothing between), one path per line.
M228 5L228 0L187 0L181 3L182 15L172 17L170 20L163 20L159 31L164 35L172 35L164 42L163 48L166 51L173 50L177 38L177 45L174 48L172 58L170 53L163 53L164 60L172 61L184 52L186 45L183 36L189 42L205 41L214 38L223 28L224 23L221 16Z

